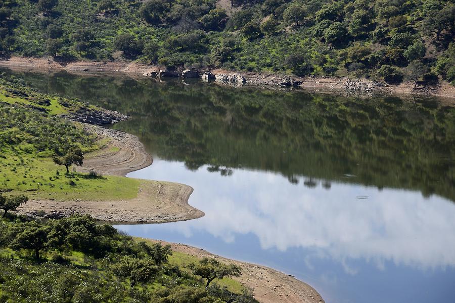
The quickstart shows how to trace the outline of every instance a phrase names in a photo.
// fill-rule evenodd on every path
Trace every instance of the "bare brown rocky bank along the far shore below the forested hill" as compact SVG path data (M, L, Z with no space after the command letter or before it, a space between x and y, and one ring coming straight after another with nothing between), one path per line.
M118 74L123 73L135 76L149 77L184 77L199 78L206 81L215 81L235 87L243 85L265 85L273 87L299 87L312 91L348 92L348 93L383 93L399 95L424 95L443 98L455 98L455 87L441 81L434 86L418 86L403 82L392 85L367 79L349 77L296 77L283 74L267 74L255 72L232 72L225 70L213 71L168 71L159 66L151 66L137 62L57 62L52 58L10 57L0 60L0 67L15 70L48 70L67 71L70 73L86 74Z

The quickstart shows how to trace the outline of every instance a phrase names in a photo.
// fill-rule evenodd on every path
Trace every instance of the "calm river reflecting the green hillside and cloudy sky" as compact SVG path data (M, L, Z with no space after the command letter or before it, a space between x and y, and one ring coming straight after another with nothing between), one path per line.
M118 229L281 270L328 303L455 297L455 108L444 102L13 74L131 115L114 127L154 162L128 176L190 185L206 214Z

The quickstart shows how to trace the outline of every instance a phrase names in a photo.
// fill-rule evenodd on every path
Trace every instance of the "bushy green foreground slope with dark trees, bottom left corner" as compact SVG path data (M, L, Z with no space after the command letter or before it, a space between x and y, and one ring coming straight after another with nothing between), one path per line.
M0 301L256 302L251 291L226 281L240 273L237 266L184 261L190 257L173 256L170 246L137 241L88 216L46 222L10 216L0 220ZM201 272L218 279L207 283Z

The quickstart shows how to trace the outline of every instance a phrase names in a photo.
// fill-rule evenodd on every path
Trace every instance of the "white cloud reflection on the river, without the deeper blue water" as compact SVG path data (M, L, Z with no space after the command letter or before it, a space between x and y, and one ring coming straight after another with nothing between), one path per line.
M371 261L379 269L385 261L422 269L455 265L455 204L440 197L343 183L328 190L315 179L307 187L309 178L302 177L296 186L261 171L235 170L223 177L160 159L129 176L195 189L190 203L206 216L166 227L187 237L203 230L232 243L236 234L252 233L262 249L309 248L319 258L338 261L349 274L357 269L348 259Z

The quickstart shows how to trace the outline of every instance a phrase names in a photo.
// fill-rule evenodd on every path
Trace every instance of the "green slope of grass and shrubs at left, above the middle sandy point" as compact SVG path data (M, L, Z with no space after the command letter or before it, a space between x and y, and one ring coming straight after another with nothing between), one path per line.
M80 101L40 94L12 79L0 80L0 192L59 200L137 195L139 180L59 168L55 160L68 164L70 156L81 164L72 152L95 151L105 142L60 115L83 106Z

